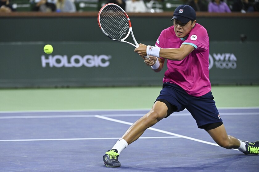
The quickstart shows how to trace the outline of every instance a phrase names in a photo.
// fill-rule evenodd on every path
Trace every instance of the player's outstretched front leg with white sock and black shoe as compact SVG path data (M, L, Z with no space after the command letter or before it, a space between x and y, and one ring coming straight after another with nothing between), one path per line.
M167 106L163 102L155 102L152 109L138 119L130 128L125 132L121 139L113 146L112 149L108 150L103 156L103 161L107 167L119 167L121 163L118 161L120 152L125 149L130 143L137 140L144 131L152 127L161 119L167 116Z

